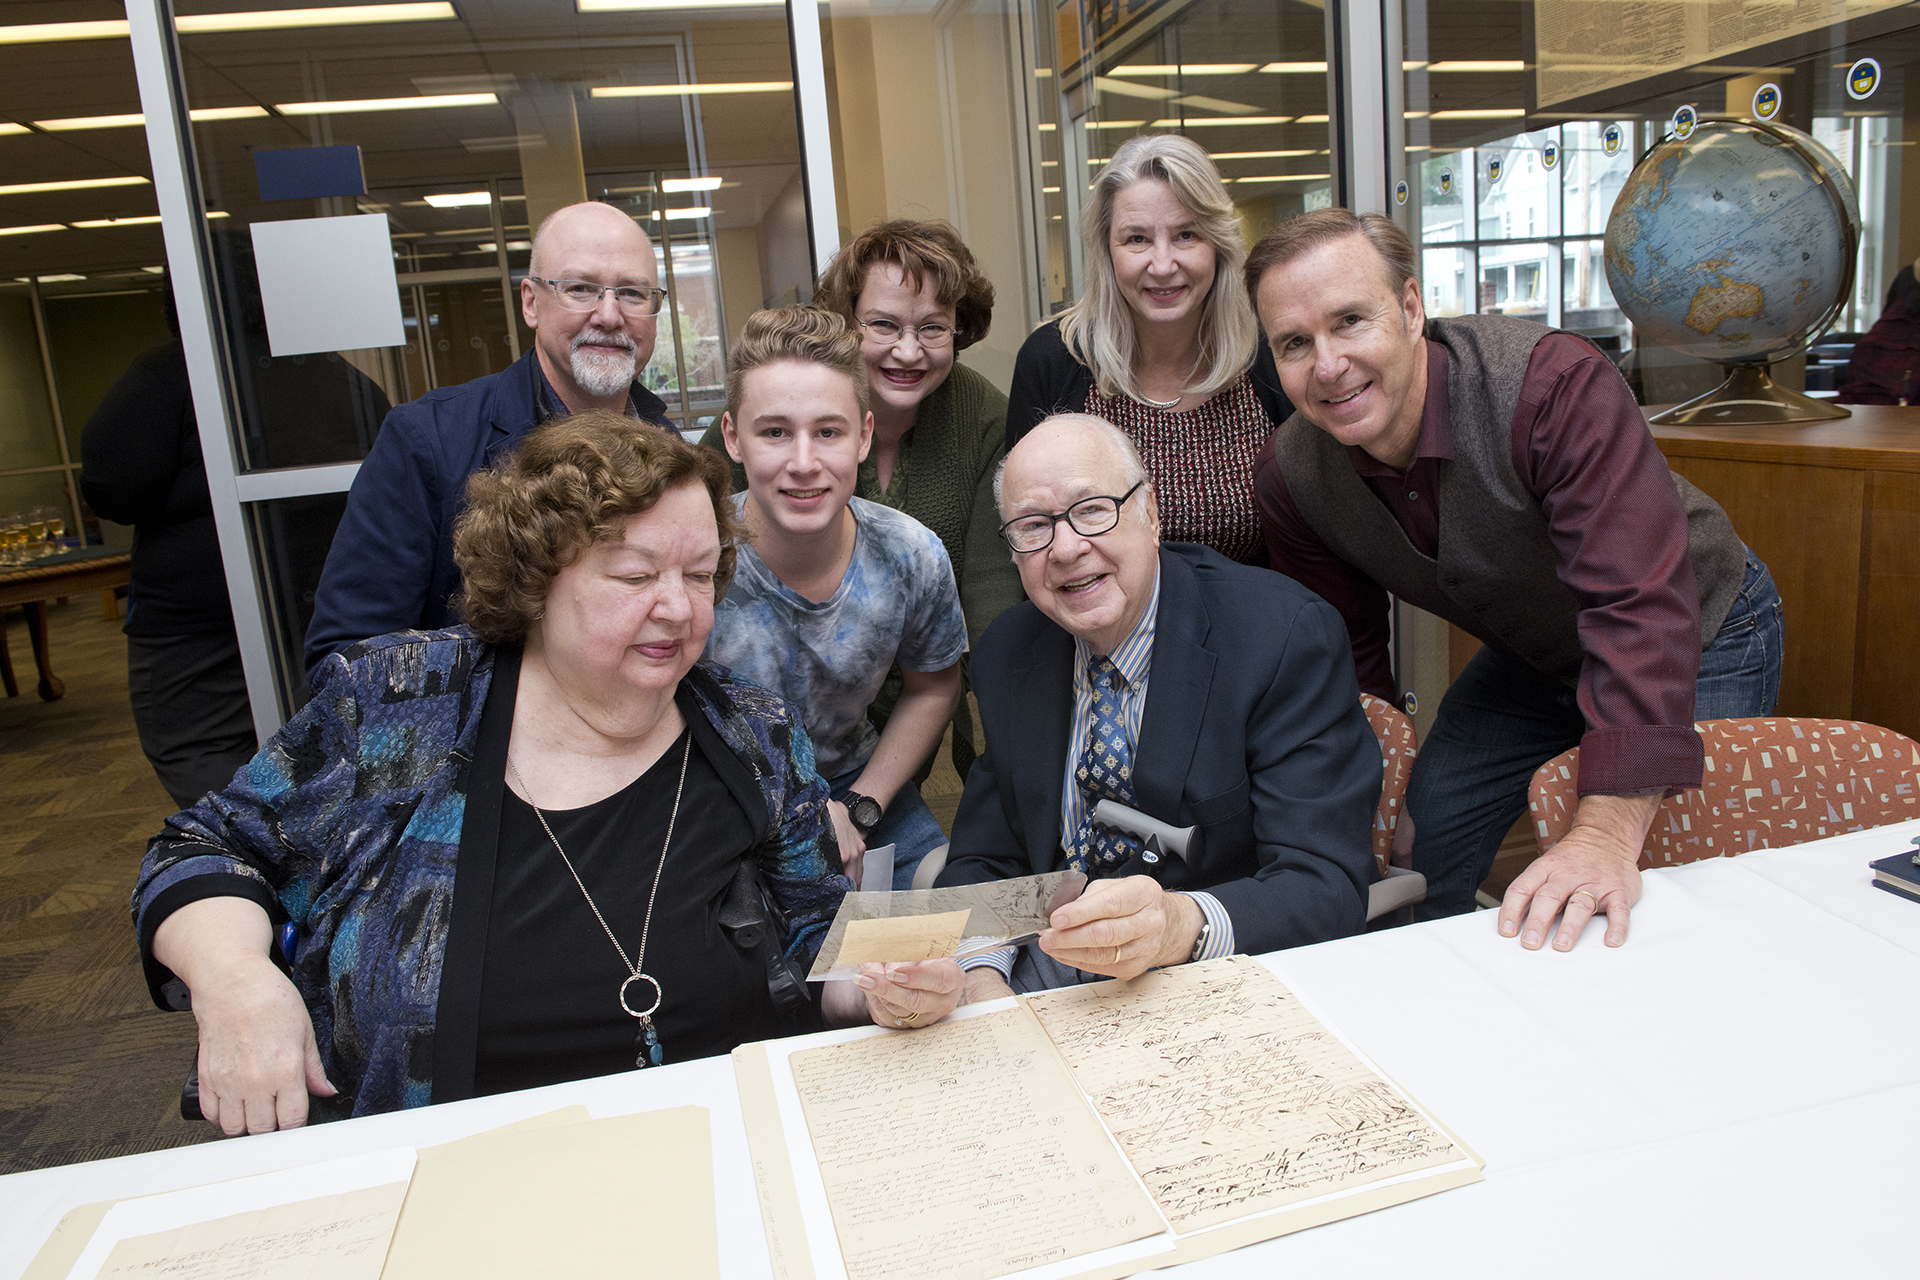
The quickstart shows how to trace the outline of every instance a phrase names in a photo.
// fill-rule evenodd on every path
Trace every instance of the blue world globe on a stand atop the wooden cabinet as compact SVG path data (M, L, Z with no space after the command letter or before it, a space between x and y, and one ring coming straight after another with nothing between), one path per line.
M1703 115L1647 152L1607 219L1607 284L1655 342L1728 365L1716 390L1661 426L1824 422L1839 405L1774 384L1853 294L1860 205L1824 146L1797 129Z

